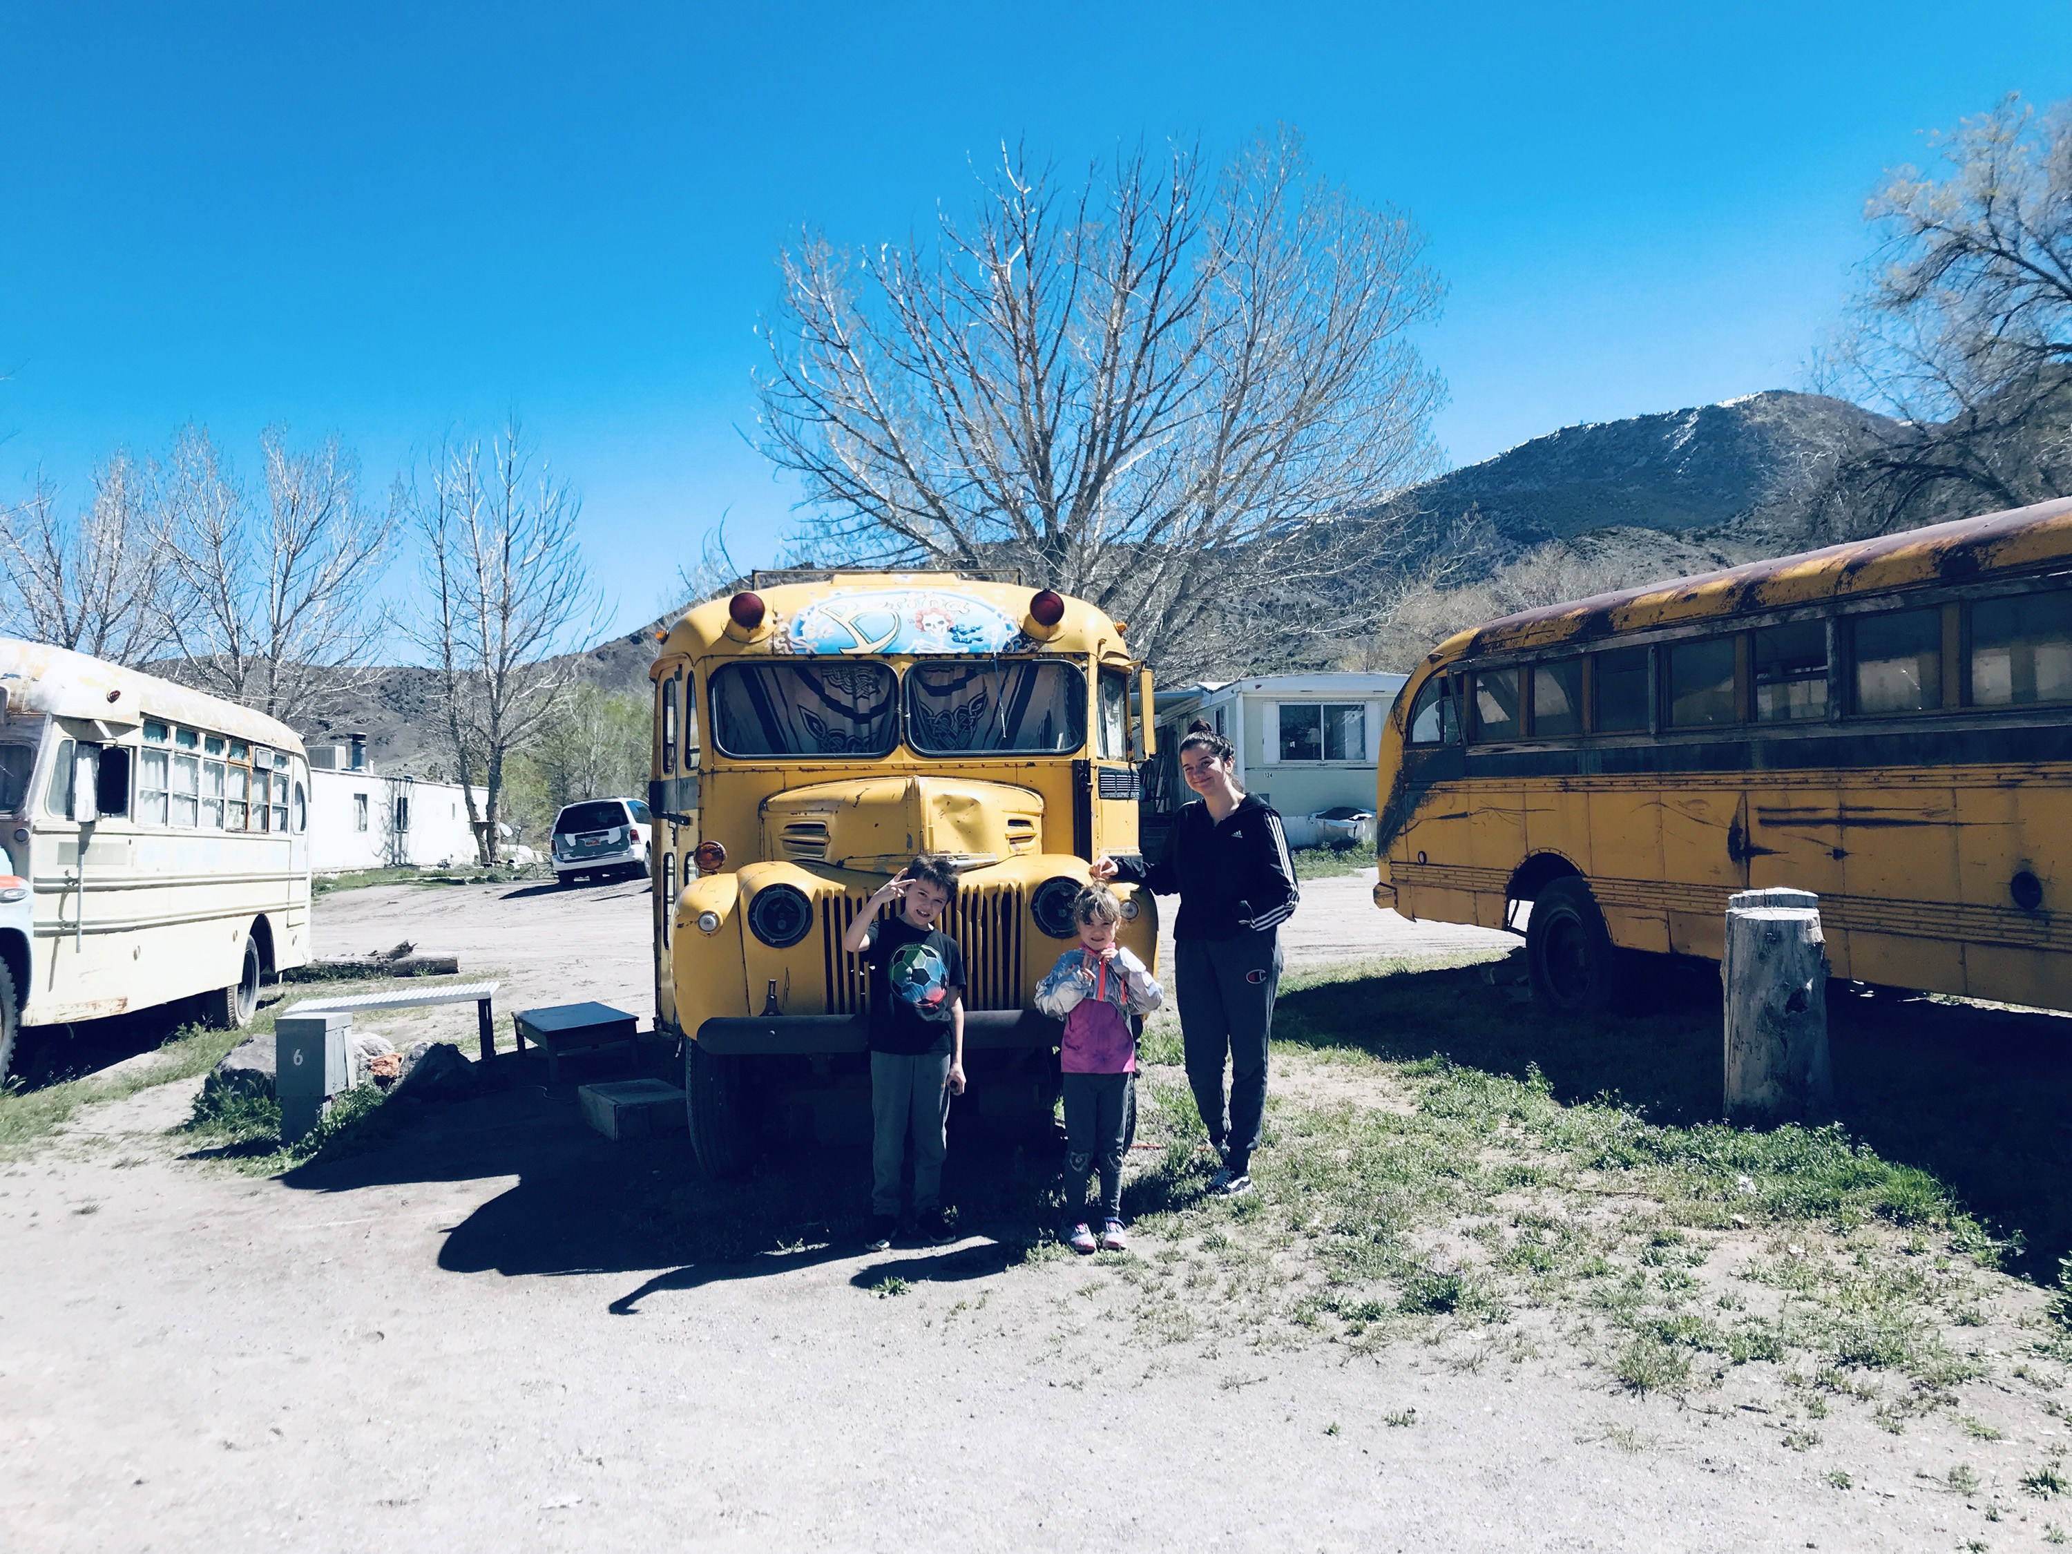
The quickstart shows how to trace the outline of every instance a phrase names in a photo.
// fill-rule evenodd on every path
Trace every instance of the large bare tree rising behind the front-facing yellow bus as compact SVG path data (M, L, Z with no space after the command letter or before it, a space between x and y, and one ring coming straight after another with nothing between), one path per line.
M783 255L765 450L823 559L1019 568L1169 671L1266 624L1343 630L1268 622L1258 586L1295 599L1386 553L1384 499L1436 468L1444 390L1407 338L1442 290L1421 251L1287 128L1214 178L1138 151L1080 189L1003 149L926 249L808 232Z

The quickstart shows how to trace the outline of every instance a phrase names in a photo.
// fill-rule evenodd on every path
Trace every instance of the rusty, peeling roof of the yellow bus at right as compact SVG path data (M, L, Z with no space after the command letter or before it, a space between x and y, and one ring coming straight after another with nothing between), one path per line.
M1722 572L1701 572L1693 578L1647 582L1593 599L1523 609L1446 638L1426 663L1598 640L1618 632L1809 605L1821 599L1968 582L1997 572L2045 568L2068 557L2072 557L2072 497L2060 497L2033 508L1989 512L1801 555L1749 562Z

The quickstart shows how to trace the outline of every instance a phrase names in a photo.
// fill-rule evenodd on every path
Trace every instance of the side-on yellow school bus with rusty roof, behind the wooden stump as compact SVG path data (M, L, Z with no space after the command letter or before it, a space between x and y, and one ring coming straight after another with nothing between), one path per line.
M1378 905L1513 926L1598 1007L1817 891L1836 976L2072 1009L2072 501L1533 609L1382 736Z

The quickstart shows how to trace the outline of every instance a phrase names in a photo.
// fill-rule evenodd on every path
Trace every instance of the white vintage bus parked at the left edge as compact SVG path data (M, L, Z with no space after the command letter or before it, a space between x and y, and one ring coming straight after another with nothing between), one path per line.
M0 636L0 1077L21 1026L234 1028L309 959L309 765L249 707Z

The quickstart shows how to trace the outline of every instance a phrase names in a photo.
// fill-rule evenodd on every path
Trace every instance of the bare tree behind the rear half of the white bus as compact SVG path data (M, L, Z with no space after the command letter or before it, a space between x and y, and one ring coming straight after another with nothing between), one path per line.
M290 450L286 433L259 437L265 512L201 427L172 445L162 479L164 528L182 601L170 638L172 673L215 696L280 719L309 717L369 673L385 613L375 584L400 512L358 499L358 460L338 437Z

